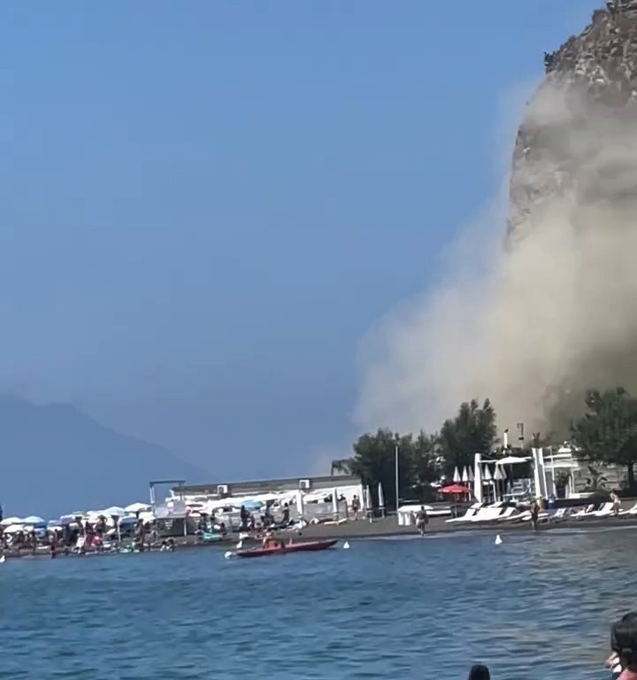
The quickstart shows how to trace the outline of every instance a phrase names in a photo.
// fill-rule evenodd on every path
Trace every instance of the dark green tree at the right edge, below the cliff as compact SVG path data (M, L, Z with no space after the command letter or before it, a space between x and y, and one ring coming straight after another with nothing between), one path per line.
M637 462L637 399L623 388L589 390L587 413L573 423L572 438L584 458L626 468L628 487L634 488Z

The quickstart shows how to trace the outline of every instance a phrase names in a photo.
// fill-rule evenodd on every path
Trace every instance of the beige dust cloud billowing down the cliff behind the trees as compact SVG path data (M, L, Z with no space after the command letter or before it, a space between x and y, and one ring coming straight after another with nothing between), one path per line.
M488 397L501 429L565 436L584 390L637 392L637 104L545 82L508 180L365 338L357 426L435 431Z

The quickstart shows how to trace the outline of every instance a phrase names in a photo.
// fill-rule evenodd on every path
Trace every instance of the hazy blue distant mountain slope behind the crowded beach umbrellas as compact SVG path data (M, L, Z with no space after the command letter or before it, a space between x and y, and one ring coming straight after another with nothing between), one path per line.
M4 516L55 517L149 498L151 479L208 478L164 447L105 428L73 406L0 397Z

